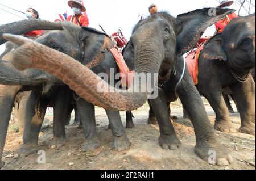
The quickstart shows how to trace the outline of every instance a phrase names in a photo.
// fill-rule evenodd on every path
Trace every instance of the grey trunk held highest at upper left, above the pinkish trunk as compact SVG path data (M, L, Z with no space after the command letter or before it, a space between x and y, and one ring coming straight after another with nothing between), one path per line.
M2 24L0 26L0 45L6 42L2 37L3 33L23 35L33 30L63 30L63 27L61 23L49 22L40 19L26 19L19 22Z

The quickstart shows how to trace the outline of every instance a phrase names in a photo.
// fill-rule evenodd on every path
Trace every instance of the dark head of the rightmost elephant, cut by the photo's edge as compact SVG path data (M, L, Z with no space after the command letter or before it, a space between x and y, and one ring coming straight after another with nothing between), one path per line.
M214 48L213 48L214 47ZM204 58L224 60L235 70L255 67L255 14L236 18L205 44Z

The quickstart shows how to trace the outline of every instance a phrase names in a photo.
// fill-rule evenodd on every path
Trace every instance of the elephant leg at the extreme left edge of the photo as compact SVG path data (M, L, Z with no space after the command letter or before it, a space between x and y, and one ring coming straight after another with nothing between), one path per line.
M0 85L0 169L5 165L5 162L2 161L2 154L17 91L14 86Z

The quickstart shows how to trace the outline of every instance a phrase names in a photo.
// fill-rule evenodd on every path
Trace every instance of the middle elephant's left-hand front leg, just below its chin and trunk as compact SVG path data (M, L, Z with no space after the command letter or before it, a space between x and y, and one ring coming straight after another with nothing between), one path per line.
M160 127L159 144L163 149L175 150L180 147L181 142L177 137L174 126L170 121L170 113L166 106L166 95L162 89L159 89L159 96L156 99L150 99L154 109L156 120Z

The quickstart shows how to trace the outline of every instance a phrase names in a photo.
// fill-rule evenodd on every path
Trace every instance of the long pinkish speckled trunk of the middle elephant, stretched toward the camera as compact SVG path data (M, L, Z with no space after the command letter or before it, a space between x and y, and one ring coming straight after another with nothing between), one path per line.
M114 87L108 85L100 77L93 73L93 71L86 68L80 62L74 60L72 57L67 56L61 52L53 50L51 48L45 47L42 44L36 43L34 41L28 40L24 37L19 37L15 35L3 35L7 40L18 43L22 46L17 48L13 54L13 59L11 63L19 70L24 70L27 68L37 68L48 73L55 75L55 77L61 79L64 83L69 85L72 90L76 91L81 98L88 100L96 106L105 108L106 110L122 110L122 111L132 111L143 104L148 99L148 95L151 92L142 92L138 87L147 86L146 82L139 81L138 85L130 87L128 91L120 91ZM139 54L143 47L138 47L135 54ZM159 60L154 60L158 56L159 49L157 46L154 48L146 50L148 53L144 58L150 58L144 61L142 64L140 56L137 56L137 64L135 64L135 71L137 73L158 73L159 65L154 62ZM152 62L150 66L146 66L147 62ZM145 74L146 80L153 80L152 74ZM136 76L135 76L136 79ZM157 77L156 77L157 79ZM150 83L151 83L150 82ZM98 91L99 85L107 87L108 92ZM104 89L106 90L106 89ZM134 90L139 90L134 92Z

